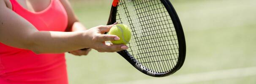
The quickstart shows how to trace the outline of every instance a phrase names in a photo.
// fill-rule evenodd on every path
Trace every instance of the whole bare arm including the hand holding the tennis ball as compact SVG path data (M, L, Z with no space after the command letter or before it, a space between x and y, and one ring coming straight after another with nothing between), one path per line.
M100 52L123 50L123 45L105 45L104 40L118 38L103 35L109 26L97 26L83 32L38 31L27 20L14 13L0 0L0 42L5 45L32 50L35 53L64 53L90 47Z

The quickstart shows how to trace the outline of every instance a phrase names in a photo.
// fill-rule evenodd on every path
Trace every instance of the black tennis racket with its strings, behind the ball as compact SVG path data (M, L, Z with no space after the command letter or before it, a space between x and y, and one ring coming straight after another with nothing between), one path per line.
M185 37L169 0L114 0L107 25L131 28L128 50L119 53L132 66L154 77L169 76L185 60Z

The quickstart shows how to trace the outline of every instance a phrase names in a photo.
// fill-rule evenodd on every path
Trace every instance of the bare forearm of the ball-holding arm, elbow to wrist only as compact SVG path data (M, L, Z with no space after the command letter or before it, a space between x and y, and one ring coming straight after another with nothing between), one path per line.
M87 47L84 32L35 32L28 38L28 49L35 53L64 53Z

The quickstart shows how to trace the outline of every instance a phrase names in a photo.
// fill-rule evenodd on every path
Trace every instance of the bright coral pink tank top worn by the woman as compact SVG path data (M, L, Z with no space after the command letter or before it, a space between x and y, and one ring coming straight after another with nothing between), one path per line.
M48 8L35 13L10 1L13 11L39 31L65 31L68 17L59 0L51 0ZM0 84L68 84L64 53L37 55L0 43Z

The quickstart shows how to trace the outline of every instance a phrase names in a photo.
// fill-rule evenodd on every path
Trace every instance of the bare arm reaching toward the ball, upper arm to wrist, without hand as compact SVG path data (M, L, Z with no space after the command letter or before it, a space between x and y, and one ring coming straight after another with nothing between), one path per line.
M1 3L0 3L1 4ZM83 32L38 31L27 20L0 5L0 42L35 53L64 53L87 47Z

